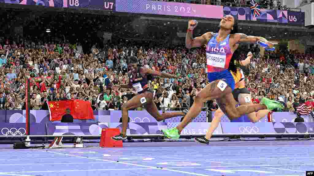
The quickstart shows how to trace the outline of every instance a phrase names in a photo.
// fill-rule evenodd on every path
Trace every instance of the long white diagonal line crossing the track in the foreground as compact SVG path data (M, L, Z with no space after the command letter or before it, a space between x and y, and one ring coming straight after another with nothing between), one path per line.
M40 150L39 150L40 151ZM48 151L47 151L48 152ZM55 153L55 154L60 154L60 155L66 155L66 156L72 156L72 157L78 157L78 158L86 158L86 159L94 159L94 160L99 160L99 161L108 161L111 163L119 163L119 164L127 164L127 165L132 165L132 166L139 166L139 167L145 167L145 168L157 168L157 167L152 167L152 166L145 166L141 164L133 164L133 163L125 163L125 162L116 162L116 161L111 161L111 160L105 160L105 159L99 159L99 158L87 158L87 157L82 157L82 156L77 156L77 155L70 155L70 154L64 154L64 153L58 153L58 152L49 152L49 153ZM172 172L179 172L179 173L186 173L186 174L191 174L191 175L198 175L198 176L209 176L205 174L200 174L200 173L193 173L193 172L185 172L185 171L179 171L179 170L173 170L173 169L168 169L168 168L159 168L160 170L167 170L167 171L172 171Z

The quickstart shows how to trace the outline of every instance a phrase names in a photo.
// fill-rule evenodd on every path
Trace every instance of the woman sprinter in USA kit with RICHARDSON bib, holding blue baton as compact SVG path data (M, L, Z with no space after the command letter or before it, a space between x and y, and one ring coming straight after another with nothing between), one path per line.
M200 37L192 38L192 31L198 22L190 20L186 35L186 47L194 48L206 44L207 73L209 84L203 88L195 98L195 101L184 117L183 121L174 128L162 130L168 138L179 138L180 133L189 122L201 112L204 102L216 99L219 108L230 119L239 118L241 115L257 112L263 109L283 109L284 106L278 101L263 98L260 104L241 105L236 107L236 100L232 91L235 89L235 81L229 71L229 64L233 62L232 54L240 43L257 43L262 41L273 48L273 44L263 37L247 36L237 33L238 23L232 15L223 17L219 24L218 33L208 32ZM268 49L267 48L267 49Z

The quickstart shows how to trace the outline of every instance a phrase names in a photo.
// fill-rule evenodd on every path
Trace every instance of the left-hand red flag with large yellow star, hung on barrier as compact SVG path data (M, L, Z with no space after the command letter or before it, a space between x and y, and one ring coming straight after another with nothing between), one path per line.
M67 113L67 108L70 109L72 114L73 100L47 101L47 104L50 114L50 121L61 121L62 116Z

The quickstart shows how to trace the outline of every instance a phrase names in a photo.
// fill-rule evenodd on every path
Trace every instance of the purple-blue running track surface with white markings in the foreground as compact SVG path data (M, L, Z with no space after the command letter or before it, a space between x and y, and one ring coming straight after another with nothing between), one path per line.
M0 148L0 176L303 176L314 168L313 144L140 142L123 143L123 148Z

